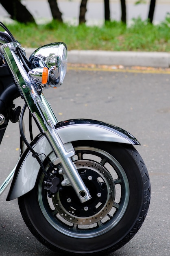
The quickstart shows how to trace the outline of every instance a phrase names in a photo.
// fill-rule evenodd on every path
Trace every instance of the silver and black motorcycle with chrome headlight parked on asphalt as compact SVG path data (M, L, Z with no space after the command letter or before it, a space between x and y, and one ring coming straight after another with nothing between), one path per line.
M2 22L0 27L0 143L9 121L20 126L20 157L0 195L11 183L7 201L18 198L28 229L57 253L99 256L119 249L142 226L150 203L148 171L134 147L139 142L102 121L59 122L44 92L63 83L66 45L44 45L28 60ZM23 108L13 104L18 97Z

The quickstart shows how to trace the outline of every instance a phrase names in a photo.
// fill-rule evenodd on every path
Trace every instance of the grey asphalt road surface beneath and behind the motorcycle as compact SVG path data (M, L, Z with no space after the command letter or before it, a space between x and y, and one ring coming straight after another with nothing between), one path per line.
M141 143L137 150L150 174L150 209L136 236L110 256L170 255L170 74L73 69L61 88L44 94L60 121L102 120L131 132ZM9 125L0 146L0 182L16 162L17 126ZM5 201L7 192L0 198L0 255L56 255L31 235L17 200Z

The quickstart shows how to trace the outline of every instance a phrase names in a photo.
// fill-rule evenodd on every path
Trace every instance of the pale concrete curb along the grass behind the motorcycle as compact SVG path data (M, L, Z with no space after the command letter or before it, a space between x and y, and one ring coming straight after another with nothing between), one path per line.
M34 50L35 48L26 48L26 56L29 57ZM168 68L170 67L170 53L71 50L68 51L68 62Z

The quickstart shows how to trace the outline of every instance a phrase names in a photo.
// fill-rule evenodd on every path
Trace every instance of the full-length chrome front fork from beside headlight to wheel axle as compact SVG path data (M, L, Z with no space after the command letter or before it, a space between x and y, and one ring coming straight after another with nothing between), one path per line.
M22 62L15 53L16 47L18 47L16 42L4 44L1 47L2 54L11 71L15 84L24 98L30 112L36 117L37 121L39 121L41 130L44 132L52 146L56 157L59 158L59 161L61 162L63 172L67 177L64 180L63 185L71 184L80 201L82 203L86 202L91 199L91 195L71 160L71 157L74 156L74 149L65 149L55 130L55 124L58 122L57 118L44 95L39 94L36 89L36 84L24 69Z

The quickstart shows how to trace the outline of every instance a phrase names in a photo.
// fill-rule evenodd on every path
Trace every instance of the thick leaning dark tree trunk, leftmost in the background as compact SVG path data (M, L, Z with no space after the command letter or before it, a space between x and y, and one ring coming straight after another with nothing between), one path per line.
M26 9L20 0L0 0L0 3L4 9L11 15L11 19L17 20L18 22L28 23L34 22L35 20L32 14Z

